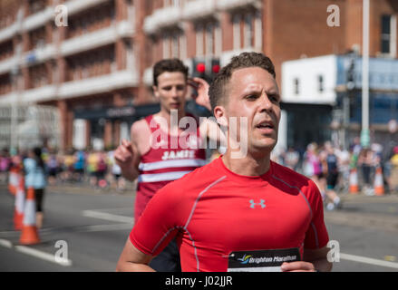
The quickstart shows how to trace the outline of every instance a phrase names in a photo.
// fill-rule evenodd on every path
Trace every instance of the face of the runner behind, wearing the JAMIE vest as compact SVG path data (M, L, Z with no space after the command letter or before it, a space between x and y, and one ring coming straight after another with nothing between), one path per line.
M158 86L153 86L153 91L162 109L168 112L184 110L187 82L183 73L161 73L158 76Z

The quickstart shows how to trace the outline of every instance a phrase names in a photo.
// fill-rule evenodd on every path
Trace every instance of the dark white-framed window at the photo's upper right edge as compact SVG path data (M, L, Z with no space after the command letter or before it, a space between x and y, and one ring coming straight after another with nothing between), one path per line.
M381 32L381 53L395 57L397 37L395 15L382 16Z

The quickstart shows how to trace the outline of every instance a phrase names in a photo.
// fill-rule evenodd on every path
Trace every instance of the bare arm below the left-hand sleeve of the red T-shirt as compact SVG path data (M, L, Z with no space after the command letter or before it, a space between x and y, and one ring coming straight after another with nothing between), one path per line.
M155 272L148 264L152 256L142 253L137 247L132 245L130 237L119 257L116 272Z

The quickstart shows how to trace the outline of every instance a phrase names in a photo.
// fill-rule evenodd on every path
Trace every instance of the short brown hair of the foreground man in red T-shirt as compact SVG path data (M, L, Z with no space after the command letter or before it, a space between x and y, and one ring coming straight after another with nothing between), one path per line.
M276 78L274 63L272 63L266 55L263 53L240 53L234 56L231 61L221 69L214 81L210 84L209 98L211 110L214 110L220 102L225 101L227 85L232 73L238 69L254 66L266 70Z

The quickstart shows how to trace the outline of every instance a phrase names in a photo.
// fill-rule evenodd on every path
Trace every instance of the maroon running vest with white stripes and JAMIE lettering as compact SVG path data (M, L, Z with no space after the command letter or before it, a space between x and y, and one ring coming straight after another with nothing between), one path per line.
M189 114L188 117L194 118ZM180 135L170 136L169 132L160 131L160 125L153 119L153 115L146 117L145 121L148 122L148 126L152 122L151 140L152 144L157 145L158 148L150 146L150 150L141 156L134 205L135 222L141 217L156 191L170 181L180 179L190 171L207 164L206 151L200 149L199 122L196 119L196 130L190 134L191 137L196 136L196 138L190 140L180 138Z

